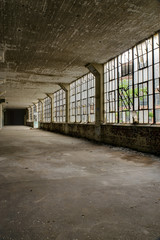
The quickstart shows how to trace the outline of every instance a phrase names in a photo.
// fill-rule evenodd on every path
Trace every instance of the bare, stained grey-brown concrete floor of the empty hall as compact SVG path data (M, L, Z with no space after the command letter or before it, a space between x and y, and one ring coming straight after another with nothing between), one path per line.
M0 240L156 240L160 158L27 127L0 131Z

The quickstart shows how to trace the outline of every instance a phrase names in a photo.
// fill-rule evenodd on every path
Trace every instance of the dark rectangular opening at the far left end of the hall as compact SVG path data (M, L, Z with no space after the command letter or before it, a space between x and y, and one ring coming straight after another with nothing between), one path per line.
M25 109L6 109L4 125L24 125Z

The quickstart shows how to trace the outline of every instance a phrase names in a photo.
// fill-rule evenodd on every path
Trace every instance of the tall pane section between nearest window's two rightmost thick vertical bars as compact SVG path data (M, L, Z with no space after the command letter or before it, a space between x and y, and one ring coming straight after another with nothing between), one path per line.
M133 48L134 110L139 123L153 123L152 38Z

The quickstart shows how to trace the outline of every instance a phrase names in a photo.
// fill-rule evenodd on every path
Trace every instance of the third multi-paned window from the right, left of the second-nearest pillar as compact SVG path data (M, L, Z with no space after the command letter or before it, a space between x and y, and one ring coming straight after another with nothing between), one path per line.
M66 92L61 89L53 94L53 121L66 121Z

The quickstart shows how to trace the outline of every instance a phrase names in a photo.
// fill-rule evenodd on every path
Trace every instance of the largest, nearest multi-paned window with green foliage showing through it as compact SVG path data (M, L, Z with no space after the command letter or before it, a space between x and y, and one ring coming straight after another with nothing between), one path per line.
M160 123L159 51L155 34L104 64L106 123Z

